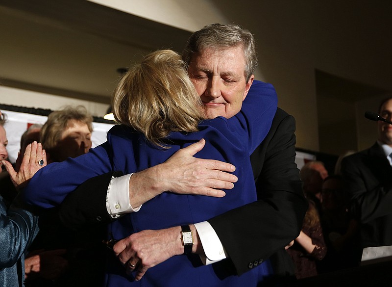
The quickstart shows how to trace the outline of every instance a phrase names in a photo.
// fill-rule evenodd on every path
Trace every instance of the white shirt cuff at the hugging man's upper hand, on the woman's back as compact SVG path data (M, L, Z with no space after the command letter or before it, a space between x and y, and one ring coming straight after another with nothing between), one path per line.
M132 208L129 203L129 179L131 174L118 178L112 177L106 193L106 209L112 217L118 217L120 214L137 212L142 206Z

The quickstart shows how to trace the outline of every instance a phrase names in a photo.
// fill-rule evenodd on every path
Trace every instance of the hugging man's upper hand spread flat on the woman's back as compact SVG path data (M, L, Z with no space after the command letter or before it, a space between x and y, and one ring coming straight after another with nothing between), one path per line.
M177 151L164 163L132 175L129 181L129 199L137 207L164 191L178 194L195 194L223 197L221 189L232 189L237 177L229 172L235 166L214 159L193 157L201 151L205 140L201 139Z

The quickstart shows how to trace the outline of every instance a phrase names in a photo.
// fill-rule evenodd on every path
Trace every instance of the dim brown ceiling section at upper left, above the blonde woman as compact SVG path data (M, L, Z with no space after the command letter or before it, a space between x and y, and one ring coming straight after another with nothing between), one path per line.
M150 51L182 51L190 32L80 0L0 0L0 84L109 103Z

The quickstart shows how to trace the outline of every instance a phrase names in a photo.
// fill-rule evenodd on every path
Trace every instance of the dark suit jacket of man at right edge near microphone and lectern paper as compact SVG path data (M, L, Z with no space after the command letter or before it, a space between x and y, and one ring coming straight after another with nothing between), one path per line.
M343 158L351 211L361 223L361 246L392 245L392 167L382 148L371 148Z

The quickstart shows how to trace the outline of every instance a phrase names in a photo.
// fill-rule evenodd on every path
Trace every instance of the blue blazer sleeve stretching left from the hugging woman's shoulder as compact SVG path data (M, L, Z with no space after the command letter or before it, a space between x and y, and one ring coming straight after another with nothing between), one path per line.
M105 142L85 155L40 169L24 189L25 201L42 208L58 206L81 183L112 171L109 150Z

